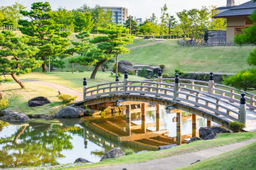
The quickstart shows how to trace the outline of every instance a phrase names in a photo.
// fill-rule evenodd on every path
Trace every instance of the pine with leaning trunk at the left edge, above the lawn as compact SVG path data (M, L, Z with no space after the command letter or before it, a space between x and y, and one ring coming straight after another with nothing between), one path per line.
M17 37L10 31L0 33L0 75L11 75L21 89L25 86L16 75L27 74L42 64L35 58L38 48L29 46L29 42L28 36Z

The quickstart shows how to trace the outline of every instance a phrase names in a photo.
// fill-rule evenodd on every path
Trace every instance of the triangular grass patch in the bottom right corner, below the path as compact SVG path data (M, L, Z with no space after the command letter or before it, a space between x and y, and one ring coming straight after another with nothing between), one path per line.
M256 169L256 142L182 169Z

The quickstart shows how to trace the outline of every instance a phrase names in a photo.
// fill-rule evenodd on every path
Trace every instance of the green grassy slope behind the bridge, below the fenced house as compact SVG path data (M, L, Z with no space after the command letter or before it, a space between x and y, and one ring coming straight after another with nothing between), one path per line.
M165 40L145 47L130 50L120 55L119 60L159 66L165 64L164 72L174 74L175 69L183 72L236 73L248 67L246 58L255 46L183 47L177 40Z

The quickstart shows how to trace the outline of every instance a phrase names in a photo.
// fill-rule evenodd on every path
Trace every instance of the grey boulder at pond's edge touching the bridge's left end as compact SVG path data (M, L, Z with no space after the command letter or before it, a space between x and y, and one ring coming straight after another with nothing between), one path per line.
M82 108L73 108L70 106L65 106L58 113L56 113L56 118L79 118L85 115Z

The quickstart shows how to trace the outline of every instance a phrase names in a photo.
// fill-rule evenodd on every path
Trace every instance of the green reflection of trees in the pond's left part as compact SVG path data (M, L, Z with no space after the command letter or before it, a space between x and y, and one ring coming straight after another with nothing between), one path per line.
M67 132L68 131L68 132ZM18 129L11 137L0 138L0 167L55 165L61 151L73 149L72 134L82 135L78 127L47 125Z

